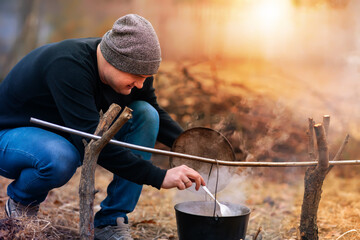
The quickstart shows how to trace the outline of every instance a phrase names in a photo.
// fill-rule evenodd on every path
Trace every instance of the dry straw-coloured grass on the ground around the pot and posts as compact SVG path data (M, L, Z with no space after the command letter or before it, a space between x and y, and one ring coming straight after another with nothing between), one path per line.
M336 170L336 169L334 169ZM360 170L360 169L358 169ZM290 183L269 181L259 177L262 170L253 169L251 174L233 181L228 188L219 193L220 199L245 204L251 210L248 234L262 229L263 239L300 239L298 226L300 219L303 185L301 176L294 176ZM276 174L281 178L287 170ZM360 238L360 187L358 177L340 178L330 173L325 180L322 200L318 212L320 239L359 239ZM97 171L96 202L105 196L107 182L111 174L105 170ZM79 172L65 186L54 189L41 205L37 219L0 222L1 239L77 239L78 238L78 180ZM2 193L9 182L0 179ZM236 190L239 190L238 192ZM186 191L185 191L186 192ZM186 200L186 194L178 190L156 190L144 186L136 210L129 215L135 239L177 239L174 205ZM234 196L234 193L237 193ZM1 207L6 197L2 195ZM1 212L1 218L4 213ZM7 221L7 222L6 222ZM12 234L12 235L11 235Z

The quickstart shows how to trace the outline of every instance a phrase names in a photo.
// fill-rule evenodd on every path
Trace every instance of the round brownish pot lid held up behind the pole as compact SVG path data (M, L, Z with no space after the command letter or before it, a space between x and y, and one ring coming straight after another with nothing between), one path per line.
M196 127L184 131L174 142L172 151L212 158L214 160L235 161L234 150L220 132L210 128ZM211 192L221 191L229 183L233 167L204 163L179 157L170 158L170 167L187 165L198 171ZM194 187L189 188L194 191Z

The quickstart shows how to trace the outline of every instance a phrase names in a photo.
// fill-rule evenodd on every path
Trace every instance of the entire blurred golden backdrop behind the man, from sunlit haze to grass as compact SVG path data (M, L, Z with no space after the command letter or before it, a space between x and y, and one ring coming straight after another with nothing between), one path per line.
M101 37L117 18L136 13L153 24L160 40L158 101L185 129L219 130L239 161L308 161L307 119L319 123L328 114L331 157L349 133L342 159L359 159L359 12L357 0L0 0L0 81L32 49L66 38ZM161 156L154 161L167 167ZM235 180L228 191L236 189L237 196L223 199L252 208L249 232L262 227L264 239L299 239L303 170L239 169L249 178ZM111 179L99 171L98 203ZM332 173L319 217L321 239L335 239L360 224L359 166L335 167ZM61 192L52 191L42 211L54 227L41 228L64 239L77 230L78 177ZM7 183L0 181L1 204ZM131 215L136 239L176 239L169 213L175 194L145 188ZM162 206L155 205L159 198Z

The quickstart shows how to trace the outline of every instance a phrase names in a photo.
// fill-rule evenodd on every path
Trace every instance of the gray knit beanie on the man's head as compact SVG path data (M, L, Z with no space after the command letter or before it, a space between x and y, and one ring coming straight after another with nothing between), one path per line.
M108 63L132 74L153 75L161 62L159 40L151 23L136 15L125 15L105 33L100 50Z

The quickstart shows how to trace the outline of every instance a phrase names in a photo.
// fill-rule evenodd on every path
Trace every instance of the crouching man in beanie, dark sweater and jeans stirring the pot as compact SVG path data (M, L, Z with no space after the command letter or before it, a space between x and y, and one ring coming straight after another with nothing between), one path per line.
M8 186L9 217L34 216L48 192L64 185L81 165L81 137L42 129L29 122L43 119L93 133L99 111L112 103L133 109L116 134L120 141L167 146L181 127L159 107L153 77L161 61L151 24L130 14L119 18L102 38L69 39L35 49L0 84L0 175ZM160 169L151 154L107 145L98 164L114 173L101 210L95 215L95 238L132 239L127 213L134 210L141 185L185 189L205 185L193 169Z

